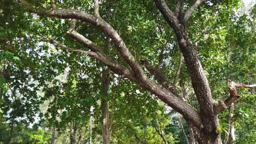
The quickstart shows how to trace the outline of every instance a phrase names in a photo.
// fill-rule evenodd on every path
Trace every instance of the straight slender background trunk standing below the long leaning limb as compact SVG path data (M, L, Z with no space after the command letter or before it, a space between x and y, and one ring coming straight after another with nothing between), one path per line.
M109 127L108 127L108 101L106 100L107 92L110 83L109 69L102 70L102 99L101 99L101 113L102 113L102 138L104 144L109 144Z

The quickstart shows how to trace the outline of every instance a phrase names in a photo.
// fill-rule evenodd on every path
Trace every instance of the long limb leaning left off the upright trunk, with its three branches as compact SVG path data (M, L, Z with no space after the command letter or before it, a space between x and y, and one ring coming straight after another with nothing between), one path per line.
M115 31L115 29L109 25L103 19L98 19L93 15L85 13L84 11L74 10L74 9L57 9L57 10L44 10L44 9L36 9L30 6L27 6L27 10L31 13L36 14L44 14L50 17L59 17L61 19L78 19L92 25L97 26L103 32L107 34L109 38L112 39L112 42L117 47L118 52L120 53L121 57L124 58L125 62L129 64L131 70L126 69L122 65L119 65L109 59L104 53L102 53L98 46L92 43L92 41L83 37L83 35L71 29L68 31L68 35L70 35L73 39L79 41L89 47L91 51L84 51L78 49L66 49L69 51L76 51L76 52L83 52L91 57L98 59L103 64L107 65L107 67L112 70L115 74L120 75L121 77L126 77L131 81L137 82L139 86L142 88L147 89L149 92L155 94L159 97L164 103L171 106L174 110L181 113L183 117L190 123L194 125L195 129L200 129L201 125L201 118L199 113L187 103L184 103L180 98L174 95L172 92L168 91L166 88L162 88L162 86L158 85L156 82L149 79L149 77L144 74L143 69L137 63L136 59L131 55L130 51L127 49L123 39L121 39L120 35ZM60 47L63 47L60 46ZM64 46L65 47L65 46ZM66 47L67 48L67 47ZM64 48L65 49L65 48Z

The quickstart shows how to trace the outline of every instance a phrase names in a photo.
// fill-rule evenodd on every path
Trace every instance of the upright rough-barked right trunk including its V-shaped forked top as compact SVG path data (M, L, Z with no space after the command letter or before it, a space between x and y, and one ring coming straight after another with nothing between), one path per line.
M198 8L201 1L196 1L194 6L189 8L183 21L173 14L164 0L155 0L155 3L167 23L176 33L179 48L182 51L197 100L199 101L202 125L200 127L201 130L197 128L195 131L199 143L222 143L216 130L218 116L214 113L214 100L212 99L211 89L185 25L191 15L190 11Z

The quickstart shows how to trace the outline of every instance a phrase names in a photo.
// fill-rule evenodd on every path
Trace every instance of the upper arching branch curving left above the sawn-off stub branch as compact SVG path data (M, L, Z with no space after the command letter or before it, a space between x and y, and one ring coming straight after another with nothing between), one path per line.
M147 76L144 74L141 66L137 63L131 52L127 49L123 39L121 39L117 31L115 31L115 29L103 19L98 19L97 17L85 13L84 11L79 11L75 9L45 10L27 6L27 10L31 13L42 14L51 17L59 17L61 19L78 19L100 27L102 31L106 33L109 38L112 39L120 55L130 65L133 72L136 73L136 77L139 79L146 79Z

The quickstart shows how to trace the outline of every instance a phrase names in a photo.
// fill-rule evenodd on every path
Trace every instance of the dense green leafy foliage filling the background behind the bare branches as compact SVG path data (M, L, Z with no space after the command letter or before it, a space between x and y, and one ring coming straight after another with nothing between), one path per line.
M49 39L75 49L87 48L65 33L71 21L29 13L26 4L53 9L54 1L0 1L0 143L102 143L102 71L104 64L83 53L50 44ZM188 9L192 1L185 1ZM93 1L55 1L58 9L93 13ZM168 1L168 5L174 5ZM170 7L171 8L171 7ZM228 80L255 83L255 7L243 13L240 1L209 1L193 11L188 33L211 86L213 98L228 97ZM114 27L126 46L143 63L158 67L174 81L182 57L176 36L153 1L100 1L100 15ZM75 30L115 62L128 67L98 27L77 21ZM42 36L43 35L43 36ZM109 44L110 43L110 44ZM133 57L131 57L133 59ZM161 59L161 62L160 60ZM177 95L187 91L187 103L199 110L188 70L182 62ZM150 79L150 75L143 66ZM234 103L235 143L255 143L254 89L238 88ZM110 143L186 143L189 125L154 94L111 73L108 101ZM219 114L223 141L229 111ZM182 126L181 126L182 125ZM92 127L92 128L91 128ZM182 128L184 127L184 133ZM92 132L92 133L90 133ZM164 138L161 136L164 135ZM196 136L195 136L196 139Z

